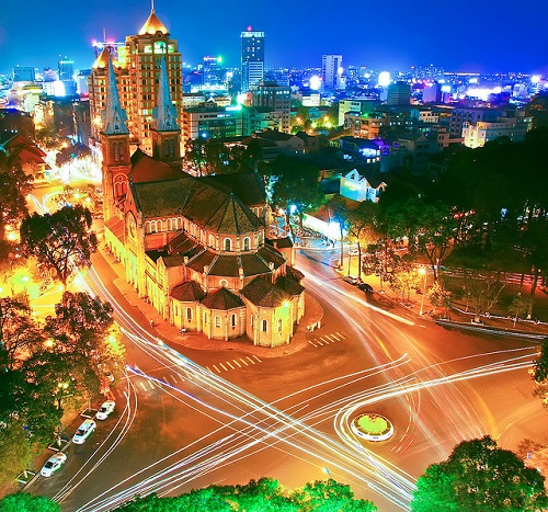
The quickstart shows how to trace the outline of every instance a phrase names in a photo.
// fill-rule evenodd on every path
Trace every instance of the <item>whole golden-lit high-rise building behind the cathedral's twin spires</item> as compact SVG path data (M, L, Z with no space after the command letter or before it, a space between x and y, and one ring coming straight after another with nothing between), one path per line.
M105 79L109 61L109 46L99 55L90 76L90 115L92 122L92 144L100 141L101 112L105 106ZM176 122L182 112L182 57L178 41L170 37L168 29L152 9L147 21L136 35L126 37L124 48L118 48L117 87L121 106L127 112L127 128L133 145L152 155L153 115L159 94L161 61L165 68L171 101L176 111Z

